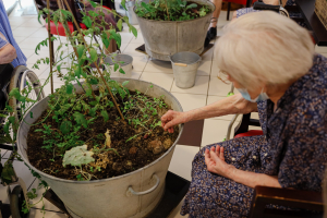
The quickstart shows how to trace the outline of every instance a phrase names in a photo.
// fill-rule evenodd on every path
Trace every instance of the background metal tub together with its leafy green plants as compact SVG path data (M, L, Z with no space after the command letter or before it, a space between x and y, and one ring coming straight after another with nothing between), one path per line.
M154 0L136 3L146 52L169 61L180 51L201 55L215 5L206 0Z

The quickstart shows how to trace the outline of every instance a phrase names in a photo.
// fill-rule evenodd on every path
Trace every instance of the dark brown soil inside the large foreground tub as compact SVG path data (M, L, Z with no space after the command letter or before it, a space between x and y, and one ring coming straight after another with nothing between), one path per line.
M160 120L159 116L162 116L167 110L168 108L159 112L158 108L159 114L154 117ZM118 177L143 168L164 155L178 137L178 128L175 128L173 134L169 134L168 132L164 132L161 126L157 126L150 134L141 134L126 142L128 138L142 131L135 129L134 125L128 124L125 121L117 121L119 113L114 107L107 108L107 111L109 120L105 122L98 112L96 121L90 124L88 129L82 130L80 140L86 142L85 144L87 144L88 150L92 150L95 145L100 145L99 148L105 147L105 133L109 130L111 147L116 148L119 155L112 150L94 155L93 157L96 161L89 164L89 166L83 166L83 171L92 174L92 180ZM36 123L45 119L46 116L47 111L43 113ZM52 116L49 116L44 124L58 126L58 123L56 123L51 117ZM86 117L86 119L90 119L90 117ZM61 156L56 156L55 161L50 160L53 158L53 154L41 148L44 146L44 138L41 138L44 133L35 132L37 129L43 129L43 125L33 125L27 136L27 155L29 162L40 171L57 178L77 180L76 177L81 173L80 168L70 165L63 167ZM99 137L99 134L101 134L102 137ZM94 167L94 170L90 169L90 166ZM100 171L96 170L97 167L100 167Z

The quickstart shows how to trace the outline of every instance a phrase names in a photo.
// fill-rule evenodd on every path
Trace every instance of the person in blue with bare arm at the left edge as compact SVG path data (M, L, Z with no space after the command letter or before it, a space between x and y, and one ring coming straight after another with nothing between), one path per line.
M26 60L13 37L5 8L0 0L0 64L11 63L15 68L26 65Z

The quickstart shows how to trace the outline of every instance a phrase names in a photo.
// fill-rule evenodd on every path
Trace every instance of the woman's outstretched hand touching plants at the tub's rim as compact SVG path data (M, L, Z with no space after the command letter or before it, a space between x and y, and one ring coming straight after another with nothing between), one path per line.
M165 131L173 133L173 126L189 121L186 112L169 110L161 117L161 125Z

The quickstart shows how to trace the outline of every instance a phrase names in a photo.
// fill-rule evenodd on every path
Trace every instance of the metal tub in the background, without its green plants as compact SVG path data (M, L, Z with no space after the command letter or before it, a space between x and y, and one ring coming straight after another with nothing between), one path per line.
M209 5L211 12L192 21L153 21L137 16L148 56L169 61L169 56L180 51L203 52L215 4L207 0L192 1Z

